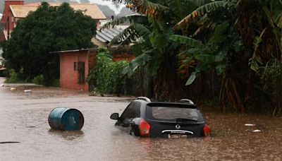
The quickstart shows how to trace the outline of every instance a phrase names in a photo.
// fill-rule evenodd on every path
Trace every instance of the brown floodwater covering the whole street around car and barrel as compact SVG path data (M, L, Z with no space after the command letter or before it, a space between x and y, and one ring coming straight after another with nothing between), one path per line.
M32 92L24 93L27 89ZM137 138L109 119L111 113L121 114L130 99L0 87L0 160L282 160L281 117L204 112L210 138ZM85 118L82 130L51 130L48 116L55 107L79 109Z

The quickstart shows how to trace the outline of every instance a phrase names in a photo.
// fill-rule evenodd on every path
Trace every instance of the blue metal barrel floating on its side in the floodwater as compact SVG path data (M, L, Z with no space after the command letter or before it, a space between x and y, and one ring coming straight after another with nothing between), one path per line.
M50 112L48 122L52 129L75 131L82 129L84 118L78 109L58 107Z

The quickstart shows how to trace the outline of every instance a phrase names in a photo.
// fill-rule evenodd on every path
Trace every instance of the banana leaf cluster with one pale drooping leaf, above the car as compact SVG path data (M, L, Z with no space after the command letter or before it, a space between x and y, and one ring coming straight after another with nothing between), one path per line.
M191 60L197 61L194 72L190 73L185 85L190 85L200 76L202 71L210 70L211 67L218 71L218 75L224 73L226 68L227 50L223 47L219 49L219 44L226 40L225 31L228 29L229 23L226 21L221 25L217 25L209 40L203 44L199 40L182 35L171 35L171 40L179 42L187 47L187 50L181 52L179 56L185 54L183 59L184 65L187 66Z

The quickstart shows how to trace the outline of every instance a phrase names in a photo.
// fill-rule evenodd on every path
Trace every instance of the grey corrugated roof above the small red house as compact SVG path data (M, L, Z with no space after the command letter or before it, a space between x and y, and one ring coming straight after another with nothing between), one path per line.
M111 42L111 40L116 37L116 35L120 34L125 30L125 28L128 28L128 26L114 26L114 28L104 28L103 30L100 30L96 32L96 39L101 42Z

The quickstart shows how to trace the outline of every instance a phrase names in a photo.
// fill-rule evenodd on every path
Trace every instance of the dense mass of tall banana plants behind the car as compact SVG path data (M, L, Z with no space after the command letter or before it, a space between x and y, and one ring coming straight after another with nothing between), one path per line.
M132 24L119 38L140 52L125 71L149 66L157 99L217 99L223 111L281 112L281 1L115 2L141 16L104 27Z

